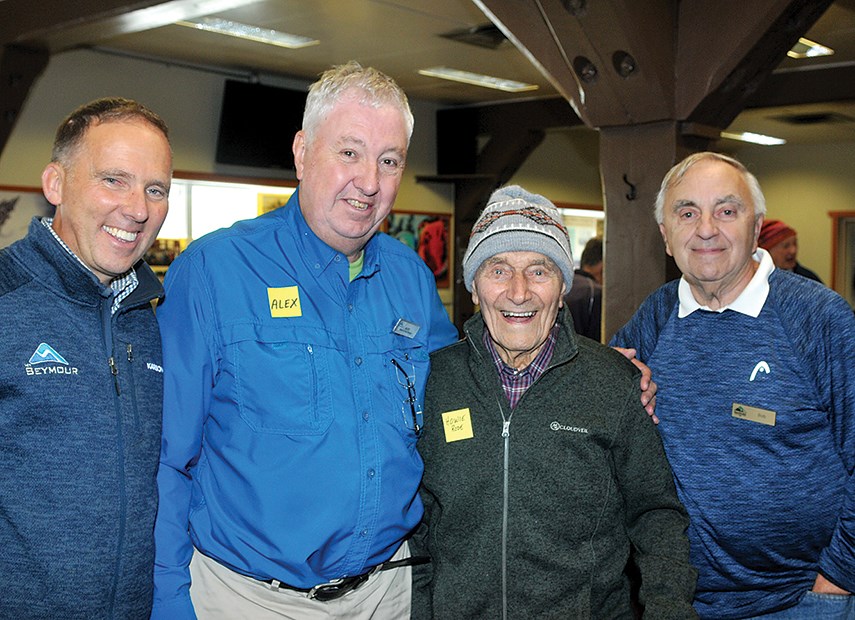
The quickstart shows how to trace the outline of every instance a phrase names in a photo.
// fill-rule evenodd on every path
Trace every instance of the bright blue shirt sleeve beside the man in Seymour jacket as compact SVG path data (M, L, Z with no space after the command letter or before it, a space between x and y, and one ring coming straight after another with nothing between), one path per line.
M208 288L195 264L185 258L190 257L179 258L169 268L166 298L157 309L164 386L152 618L169 620L196 617L189 569L192 471L202 448L216 365Z

